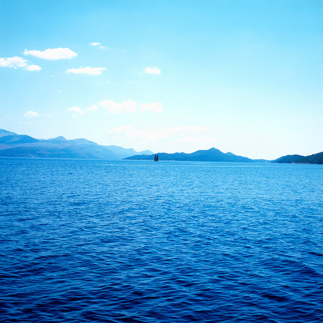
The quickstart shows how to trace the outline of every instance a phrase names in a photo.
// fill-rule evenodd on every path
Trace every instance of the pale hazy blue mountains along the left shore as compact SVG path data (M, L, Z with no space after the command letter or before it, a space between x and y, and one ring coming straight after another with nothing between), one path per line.
M0 129L0 156L120 160L134 154L137 152L131 148L98 145L85 138L67 140L59 136L45 140Z

